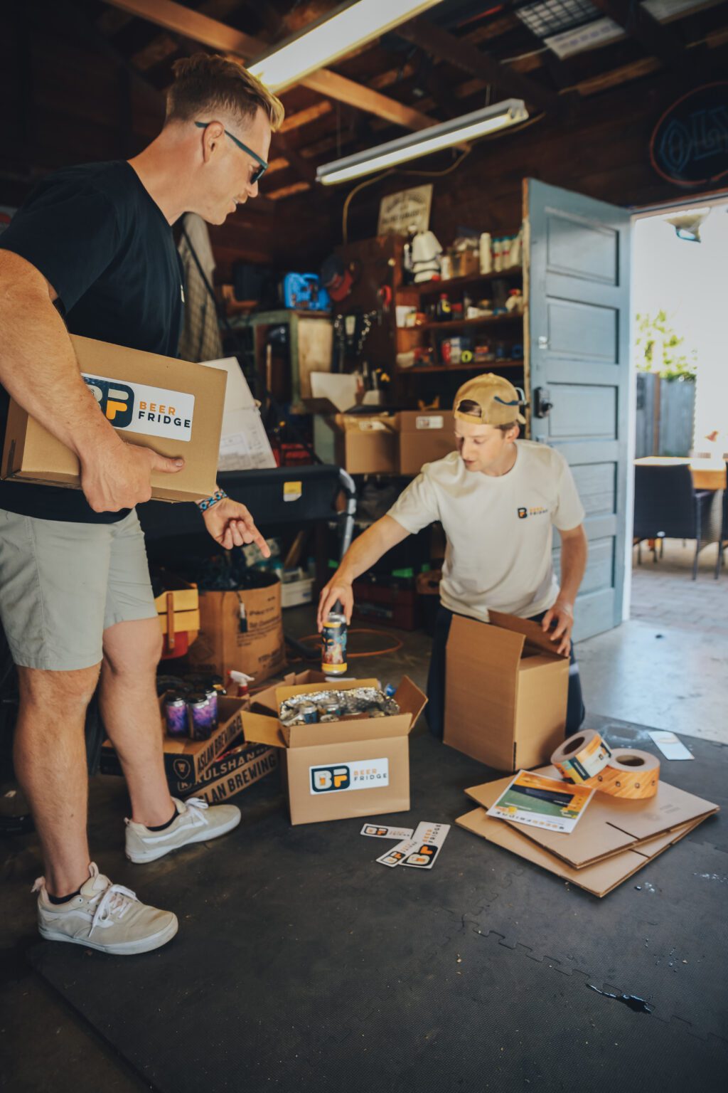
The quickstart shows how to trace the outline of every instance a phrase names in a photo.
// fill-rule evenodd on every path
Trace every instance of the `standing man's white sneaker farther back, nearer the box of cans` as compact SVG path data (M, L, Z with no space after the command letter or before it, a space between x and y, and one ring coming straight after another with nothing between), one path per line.
M150 831L143 823L124 820L127 824L127 857L130 861L156 861L170 850L188 843L207 843L240 823L240 809L235 804L215 804L210 808L201 797L187 801L172 797L177 818L164 831Z

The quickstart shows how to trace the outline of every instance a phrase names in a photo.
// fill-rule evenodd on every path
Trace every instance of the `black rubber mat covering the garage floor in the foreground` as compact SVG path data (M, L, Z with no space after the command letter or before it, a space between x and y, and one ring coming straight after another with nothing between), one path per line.
M639 727L602 726L654 750ZM666 780L725 804L728 749L689 743L695 761L665 762ZM414 808L390 820L452 823L463 788L488 775L417 734ZM153 1088L723 1088L723 816L599 901L461 828L431 872L385 869L374 859L389 844L361 837L361 821L291 828L274 794L270 779L243 794L243 823L223 839L115 872L177 912L169 945L32 952Z

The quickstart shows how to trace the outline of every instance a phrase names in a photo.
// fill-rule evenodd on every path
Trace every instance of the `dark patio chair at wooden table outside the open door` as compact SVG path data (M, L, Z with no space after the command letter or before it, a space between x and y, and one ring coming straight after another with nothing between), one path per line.
M720 542L723 492L694 490L690 467L634 468L634 542L637 563L642 562L643 539L694 539L693 580L697 556L708 543ZM657 561L655 546L654 560ZM717 579L718 568L715 577Z

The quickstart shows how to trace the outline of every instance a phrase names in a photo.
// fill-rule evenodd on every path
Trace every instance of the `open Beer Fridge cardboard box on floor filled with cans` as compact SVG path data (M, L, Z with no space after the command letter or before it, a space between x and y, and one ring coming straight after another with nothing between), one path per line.
M335 683L337 690L378 685L373 679ZM427 703L422 692L405 677L395 694L401 709L395 716L281 724L277 713L285 698L321 687L321 682L278 686L267 715L250 710L242 718L246 740L282 751L291 824L409 809L409 732Z

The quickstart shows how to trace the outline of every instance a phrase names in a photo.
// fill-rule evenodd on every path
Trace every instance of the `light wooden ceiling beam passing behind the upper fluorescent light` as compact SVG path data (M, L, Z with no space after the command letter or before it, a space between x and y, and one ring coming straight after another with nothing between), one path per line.
M175 0L105 0L105 3L213 49L232 54L242 60L255 58L270 48L268 44L261 42L260 38L236 31L235 27L227 26L191 8L184 8ZM427 117L421 111L353 80L347 80L329 69L312 72L300 82L321 95L375 114L404 129L426 129L437 124L435 119Z

